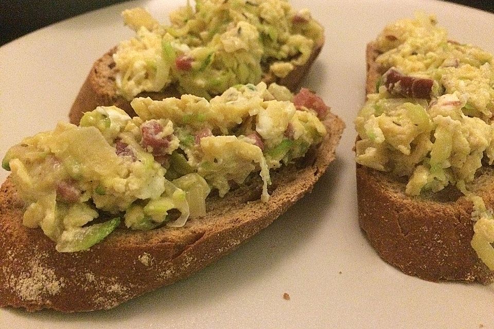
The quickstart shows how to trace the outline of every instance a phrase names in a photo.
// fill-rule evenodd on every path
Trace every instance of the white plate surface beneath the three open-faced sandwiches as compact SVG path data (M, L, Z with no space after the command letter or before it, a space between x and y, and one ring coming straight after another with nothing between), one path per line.
M132 32L120 11L158 19L185 0L124 3L41 29L0 48L0 156L54 127L92 63ZM293 0L326 29L306 85L347 124L338 159L312 194L273 225L192 277L105 312L29 314L0 309L1 328L479 328L494 324L494 293L431 283L382 262L357 224L353 119L364 100L365 44L387 22L435 13L451 39L494 51L494 15L425 0ZM2 171L0 180L7 173ZM288 293L290 300L283 294ZM76 296L74 298L77 298Z

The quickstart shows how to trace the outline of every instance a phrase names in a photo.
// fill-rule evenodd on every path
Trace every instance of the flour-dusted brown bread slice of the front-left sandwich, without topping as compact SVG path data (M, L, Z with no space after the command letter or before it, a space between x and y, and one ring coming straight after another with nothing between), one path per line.
M253 176L225 197L209 196L207 214L181 228L117 229L88 251L59 253L41 229L22 225L23 202L8 178L0 191L0 306L62 312L108 309L215 262L271 224L324 174L344 123L328 113L319 147L271 172L267 203Z

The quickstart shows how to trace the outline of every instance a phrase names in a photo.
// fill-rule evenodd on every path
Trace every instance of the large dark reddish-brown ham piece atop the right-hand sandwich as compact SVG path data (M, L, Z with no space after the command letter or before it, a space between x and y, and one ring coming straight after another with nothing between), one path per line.
M383 84L393 95L412 98L431 98L434 81L427 78L405 76L395 68L383 75Z

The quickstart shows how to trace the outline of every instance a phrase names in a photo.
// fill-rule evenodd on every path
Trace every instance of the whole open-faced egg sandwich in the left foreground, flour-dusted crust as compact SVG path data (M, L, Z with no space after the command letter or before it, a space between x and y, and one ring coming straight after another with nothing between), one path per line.
M263 82L131 104L7 152L0 306L107 309L187 277L311 191L344 128L309 90Z

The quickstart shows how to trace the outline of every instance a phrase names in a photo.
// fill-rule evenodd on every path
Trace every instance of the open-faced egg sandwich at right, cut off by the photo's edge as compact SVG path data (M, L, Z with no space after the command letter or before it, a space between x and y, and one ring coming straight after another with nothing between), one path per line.
M425 14L368 44L355 120L359 222L380 257L409 275L494 278L493 65Z

